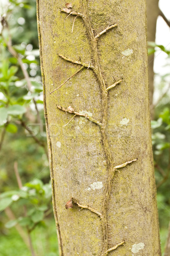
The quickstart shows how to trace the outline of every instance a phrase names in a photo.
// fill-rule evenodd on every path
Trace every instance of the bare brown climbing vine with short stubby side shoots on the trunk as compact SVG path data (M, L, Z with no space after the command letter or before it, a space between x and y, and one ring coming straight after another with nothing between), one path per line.
M102 142L103 142L103 148L104 148L104 151L105 151L105 157L106 157L107 165L108 165L108 177L107 177L107 183L106 183L106 188L105 188L105 194L104 194L104 198L103 198L102 212L99 212L96 209L93 209L93 208L89 207L88 205L85 206L85 205L79 204L79 202L75 198L71 198L71 200L69 200L66 203L65 207L66 207L66 209L69 209L69 208L73 208L73 204L77 204L78 207L80 207L82 209L88 209L91 212L94 212L96 215L99 216L99 218L101 220L102 236L103 236L101 256L107 256L109 252L111 252L112 250L115 250L117 247L119 247L120 245L125 243L125 241L123 240L123 241L120 241L119 244L116 244L115 246L113 246L111 248L108 248L107 209L108 209L108 202L109 202L109 198L110 198L113 177L114 177L115 172L118 169L120 169L122 167L125 167L127 164L130 164L130 163L135 162L137 160L137 159L134 159L134 160L128 161L126 163L123 163L119 166L114 166L113 158L111 156L111 151L110 151L110 147L109 147L109 143L108 143L108 136L107 136L108 93L109 93L109 90L111 90L117 84L120 84L122 82L122 79L119 79L114 84L111 84L110 86L107 86L107 83L106 83L106 81L105 81L105 79L102 75L102 70L101 70L101 67L100 67L100 64L99 64L99 54L98 54L98 43L97 42L98 42L99 38L102 35L104 35L108 30L117 27L118 24L115 23L111 26L108 26L102 32L95 35L94 29L92 29L92 27L91 27L90 18L88 16L88 6L87 6L86 0L82 0L83 14L80 13L80 12L74 11L72 9L73 7L72 7L71 3L66 3L65 6L66 6L65 8L61 9L61 12L64 12L64 13L68 14L68 16L74 15L75 16L74 21L77 17L82 18L82 21L83 21L83 24L85 26L86 33L87 33L87 36L88 36L88 41L91 45L91 52L92 52L91 61L89 61L89 63L83 63L81 61L81 59L79 61L76 61L76 60L73 60L71 58L68 58L68 57L65 57L65 56L59 54L59 57L62 58L63 60L71 62L73 64L77 64L77 65L81 66L81 68L76 73L74 73L72 76L70 76L59 87L57 87L55 90L51 91L50 94L54 93L56 90L58 90L63 84L65 84L69 79L71 79L73 76L75 76L77 73L79 73L84 68L92 70L92 72L96 76L96 79L99 83L100 90L101 90L102 121L96 120L93 117L88 116L88 114L79 113L79 112L75 111L74 108L72 108L71 106L69 106L68 108L64 108L62 106L57 105L57 108L60 109L61 111L65 111L65 112L68 112L70 114L74 114L74 116L71 118L71 120L75 116L83 116L86 119L88 119L89 121L94 122L96 125L99 125L100 131L101 131L101 134L102 134ZM73 22L72 31L73 31L73 29L74 29L74 22ZM92 62L92 64L91 64L91 62ZM71 120L69 122L71 122Z

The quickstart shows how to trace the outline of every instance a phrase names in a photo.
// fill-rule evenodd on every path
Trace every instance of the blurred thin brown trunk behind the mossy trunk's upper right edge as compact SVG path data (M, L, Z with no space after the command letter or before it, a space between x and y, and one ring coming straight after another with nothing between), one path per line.
M147 3L147 40L155 42L156 21L159 15L159 0L146 0ZM150 113L151 119L154 118L153 108L153 61L154 54L148 56L148 77L149 77L149 97L150 97Z

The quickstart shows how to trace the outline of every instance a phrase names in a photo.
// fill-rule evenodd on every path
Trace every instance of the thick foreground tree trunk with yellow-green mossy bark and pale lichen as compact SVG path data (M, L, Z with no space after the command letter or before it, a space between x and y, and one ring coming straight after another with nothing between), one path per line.
M60 255L161 255L145 1L72 5L37 1Z

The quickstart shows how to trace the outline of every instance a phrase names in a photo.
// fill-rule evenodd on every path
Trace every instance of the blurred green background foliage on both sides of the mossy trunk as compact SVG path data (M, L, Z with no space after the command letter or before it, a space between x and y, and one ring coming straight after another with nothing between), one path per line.
M36 0L0 6L0 253L58 256L51 202ZM162 45L149 42L148 53ZM159 76L159 75L158 75ZM159 76L151 121L162 252L170 221L170 84ZM35 136L36 135L36 136Z

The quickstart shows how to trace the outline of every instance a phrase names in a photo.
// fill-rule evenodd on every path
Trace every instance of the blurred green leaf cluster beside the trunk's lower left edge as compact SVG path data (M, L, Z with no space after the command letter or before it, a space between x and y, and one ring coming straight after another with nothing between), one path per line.
M14 207L17 206L20 209L20 212L16 219L6 223L6 228L20 224L31 232L37 224L44 226L45 216L52 211L51 183L44 184L36 178L19 190L11 190L0 195L0 211L9 206L13 207L13 204L15 204ZM28 210L24 213L22 207Z

